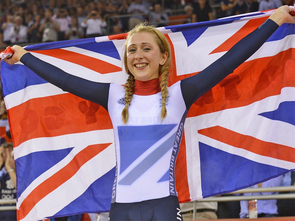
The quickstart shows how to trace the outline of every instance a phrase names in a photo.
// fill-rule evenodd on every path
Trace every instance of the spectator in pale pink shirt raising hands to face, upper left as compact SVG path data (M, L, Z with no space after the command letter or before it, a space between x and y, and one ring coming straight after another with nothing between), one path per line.
M60 30L58 31L58 41L65 39L65 32L69 29L72 19L68 15L66 9L59 9L52 17L52 20L59 24Z

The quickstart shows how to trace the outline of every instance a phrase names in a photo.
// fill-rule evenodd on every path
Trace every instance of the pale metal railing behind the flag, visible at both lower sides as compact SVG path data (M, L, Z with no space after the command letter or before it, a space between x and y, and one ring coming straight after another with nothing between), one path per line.
M289 192L295 191L295 186L281 186L281 187L260 187L260 188L246 188L240 189L230 194L240 193L256 193L256 192ZM193 210L193 218L196 219L196 202L225 202L225 201L240 201L240 200L251 200L251 199L295 199L295 193L284 193L284 194L271 194L271 195L259 195L259 196L221 196L221 197L208 197L205 199L199 199L192 201L193 206L182 212ZM1 204L16 204L16 199L0 199ZM16 206L0 206L0 211L4 210L16 210Z

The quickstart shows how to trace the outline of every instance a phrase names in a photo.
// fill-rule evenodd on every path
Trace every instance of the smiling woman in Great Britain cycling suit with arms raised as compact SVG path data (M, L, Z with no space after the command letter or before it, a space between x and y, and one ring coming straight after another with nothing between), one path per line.
M183 220L174 163L190 106L258 50L279 25L295 23L289 14L292 10L282 6L212 65L169 88L168 41L157 29L143 24L126 38L125 86L75 77L19 46L12 47L14 55L6 62L21 61L46 81L109 112L117 154L109 220Z

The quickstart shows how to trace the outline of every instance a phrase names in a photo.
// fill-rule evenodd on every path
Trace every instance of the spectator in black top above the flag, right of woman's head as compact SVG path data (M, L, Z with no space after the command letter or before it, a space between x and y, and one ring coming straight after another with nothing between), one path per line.
M197 22L206 22L213 20L212 8L207 0L198 0L192 4L197 16Z

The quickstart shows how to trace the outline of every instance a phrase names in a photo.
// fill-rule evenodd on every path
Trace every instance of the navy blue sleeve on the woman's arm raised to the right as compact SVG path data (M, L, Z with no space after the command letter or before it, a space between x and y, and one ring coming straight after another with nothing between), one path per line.
M251 57L278 27L276 22L267 19L207 68L194 76L181 80L181 92L186 108L189 109L199 97Z

